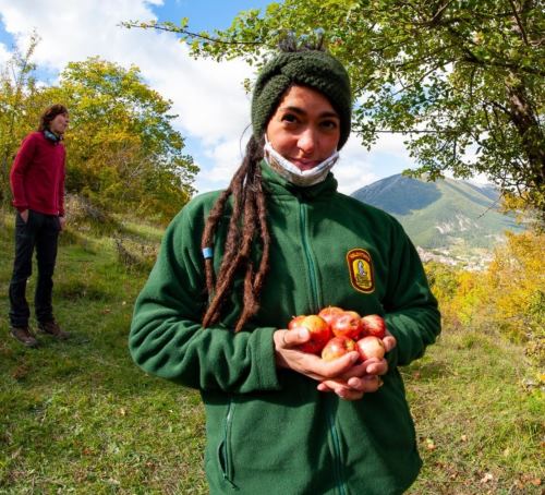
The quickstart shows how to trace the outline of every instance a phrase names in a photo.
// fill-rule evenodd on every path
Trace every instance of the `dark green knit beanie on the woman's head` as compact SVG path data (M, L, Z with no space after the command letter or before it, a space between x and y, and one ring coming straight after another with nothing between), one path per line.
M330 53L318 50L280 52L268 62L255 82L252 126L259 140L283 93L292 84L310 86L329 100L340 118L340 149L350 135L352 95L347 70Z

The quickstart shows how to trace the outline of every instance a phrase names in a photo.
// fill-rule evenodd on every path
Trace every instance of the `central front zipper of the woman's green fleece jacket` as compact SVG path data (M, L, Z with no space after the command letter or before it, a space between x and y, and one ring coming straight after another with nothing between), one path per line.
M303 203L301 197L299 198L299 218L301 221L301 238L303 240L303 251L305 252L306 264L308 266L310 281L311 281L311 292L312 292L312 304L314 305L314 312L317 313L322 305L322 298L318 293L318 283L316 277L316 267L314 266L314 261L311 256L311 247L306 234L306 213L307 206ZM341 455L340 455L340 443L339 443L339 434L337 433L337 428L335 426L335 418L331 411L331 403L327 408L327 418L329 420L329 432L331 434L332 444L334 444L334 466L335 466L335 476L337 479L337 487L340 495L346 495L347 491L344 488L344 481L342 480L342 467L341 467Z

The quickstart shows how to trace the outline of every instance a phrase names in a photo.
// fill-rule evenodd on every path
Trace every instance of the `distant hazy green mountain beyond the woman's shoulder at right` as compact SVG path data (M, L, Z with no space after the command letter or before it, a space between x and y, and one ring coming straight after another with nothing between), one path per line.
M448 256L489 252L523 227L498 210L499 192L456 179L426 182L395 174L354 191L355 200L396 217L421 252ZM479 254L477 254L479 255Z

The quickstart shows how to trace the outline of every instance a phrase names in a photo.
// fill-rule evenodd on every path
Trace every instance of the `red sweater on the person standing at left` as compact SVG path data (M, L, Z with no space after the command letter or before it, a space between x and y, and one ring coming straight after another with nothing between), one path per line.
M33 132L24 140L10 172L13 206L46 215L64 215L64 162L62 143Z

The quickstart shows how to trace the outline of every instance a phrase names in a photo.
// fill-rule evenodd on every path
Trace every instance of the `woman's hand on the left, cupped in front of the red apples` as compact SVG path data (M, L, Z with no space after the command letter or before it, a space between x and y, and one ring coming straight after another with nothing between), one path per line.
M317 382L343 376L359 359L356 351L329 362L315 354L301 351L299 346L311 338L306 329L276 330L272 338L278 367L293 370Z

